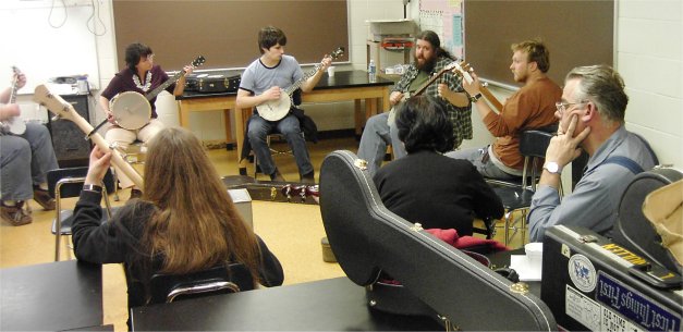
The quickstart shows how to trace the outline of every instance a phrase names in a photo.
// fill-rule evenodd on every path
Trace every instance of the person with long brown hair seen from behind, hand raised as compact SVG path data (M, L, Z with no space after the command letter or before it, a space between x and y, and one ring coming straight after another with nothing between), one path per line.
M160 131L148 146L145 192L100 224L102 188L111 152L95 147L73 216L77 259L123 263L129 307L150 299L154 273L186 274L240 262L254 281L281 285L278 258L240 217L199 139L190 131Z

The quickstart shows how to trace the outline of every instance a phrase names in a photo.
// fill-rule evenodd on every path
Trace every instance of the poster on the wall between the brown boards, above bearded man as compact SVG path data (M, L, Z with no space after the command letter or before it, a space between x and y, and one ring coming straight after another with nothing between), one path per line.
M420 0L419 28L434 30L441 38L441 47L454 57L463 58L463 1Z

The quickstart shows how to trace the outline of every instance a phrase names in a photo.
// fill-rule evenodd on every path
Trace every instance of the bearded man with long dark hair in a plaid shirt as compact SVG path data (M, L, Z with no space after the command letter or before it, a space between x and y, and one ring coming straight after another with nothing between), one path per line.
M434 74L455 61L447 50L441 48L439 36L432 30L424 30L415 37L413 57L413 63L389 95L389 101L394 108L404 98L423 87ZM429 85L424 94L448 101L446 110L449 121L453 124L453 139L452 146L448 148L449 151L458 148L463 139L472 139L469 101L461 86L461 81L454 74L451 72L443 74L437 82ZM358 158L367 160L370 175L374 175L380 168L387 153L387 146L392 146L394 159L406 155L393 122L391 112L385 110L385 113L371 116L365 124L358 146Z

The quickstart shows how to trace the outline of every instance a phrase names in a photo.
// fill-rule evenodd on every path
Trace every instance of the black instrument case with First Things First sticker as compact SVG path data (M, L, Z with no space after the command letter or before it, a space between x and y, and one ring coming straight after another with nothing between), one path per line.
M568 331L681 331L681 275L583 228L546 232L540 298Z

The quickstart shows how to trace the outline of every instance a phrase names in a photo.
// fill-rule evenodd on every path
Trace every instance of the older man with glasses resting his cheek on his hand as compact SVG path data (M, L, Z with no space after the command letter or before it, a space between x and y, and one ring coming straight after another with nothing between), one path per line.
M541 242L546 230L559 224L611 237L626 186L637 173L658 163L647 142L626 131L627 102L622 77L608 65L580 66L566 75L562 100L556 104L560 127L546 151L528 214L532 242ZM586 170L574 192L560 202L562 169L582 149L590 157Z

